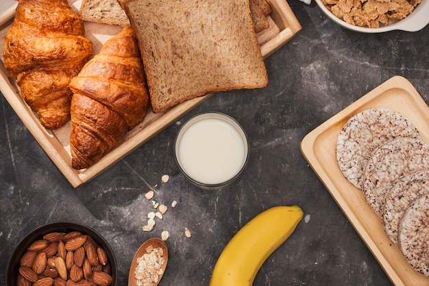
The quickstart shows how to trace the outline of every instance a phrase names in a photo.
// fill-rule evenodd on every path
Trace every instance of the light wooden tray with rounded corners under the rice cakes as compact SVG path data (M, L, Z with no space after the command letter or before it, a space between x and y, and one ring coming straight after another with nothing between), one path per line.
M345 179L336 162L336 139L343 125L355 114L377 107L406 116L419 130L421 139L429 142L429 107L408 80L396 76L308 133L302 140L301 151L392 283L429 285L429 278L413 270L400 249L392 245L363 192Z

